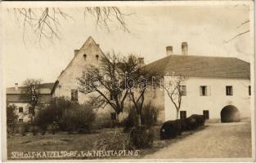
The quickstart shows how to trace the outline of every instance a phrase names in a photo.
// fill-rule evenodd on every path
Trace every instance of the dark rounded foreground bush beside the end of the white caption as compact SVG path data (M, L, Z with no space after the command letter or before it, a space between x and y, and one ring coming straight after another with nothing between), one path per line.
M131 145L140 148L151 148L154 141L154 131L150 126L137 126L130 134Z

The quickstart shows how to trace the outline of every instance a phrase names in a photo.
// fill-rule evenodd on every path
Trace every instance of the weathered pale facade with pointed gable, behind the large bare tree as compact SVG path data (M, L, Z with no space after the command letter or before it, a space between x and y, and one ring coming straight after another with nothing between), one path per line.
M85 95L79 91L78 79L83 77L83 73L88 66L100 66L101 57L104 53L97 42L92 37L88 37L83 46L79 50L74 50L74 58L70 61L70 64L61 72L57 77L55 85L52 89L53 97L67 97L72 101L77 101L79 104L88 102L90 95ZM110 119L111 113L114 112L109 106L104 109L95 109L97 112L97 118L108 117Z

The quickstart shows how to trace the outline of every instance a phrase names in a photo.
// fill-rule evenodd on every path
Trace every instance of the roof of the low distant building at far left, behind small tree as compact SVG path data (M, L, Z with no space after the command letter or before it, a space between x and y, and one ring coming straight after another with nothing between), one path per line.
M40 94L49 94L49 95L51 95L51 91L52 91L53 86L54 86L54 82L41 84L40 89L39 89ZM16 95L25 94L25 89L26 89L26 86L19 86L18 90L15 90L15 87L9 87L9 88L7 88L7 95L10 95L10 94L16 94Z

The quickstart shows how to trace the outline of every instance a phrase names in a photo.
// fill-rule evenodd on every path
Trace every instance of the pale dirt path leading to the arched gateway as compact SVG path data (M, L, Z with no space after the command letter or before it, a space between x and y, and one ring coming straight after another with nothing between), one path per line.
M204 130L162 148L145 158L251 157L250 122L210 123Z

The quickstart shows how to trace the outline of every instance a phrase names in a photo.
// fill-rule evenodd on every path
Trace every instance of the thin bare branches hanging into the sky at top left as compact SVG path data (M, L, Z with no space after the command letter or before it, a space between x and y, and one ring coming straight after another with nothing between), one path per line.
M60 39L61 19L74 20L74 18L62 8L43 7L43 8L13 8L8 9L9 12L15 15L18 23L23 26L23 41L25 35L35 34L36 42L40 42L42 38L53 41ZM120 25L124 31L128 31L128 26L125 23L124 14L119 7L84 7L84 17L92 16L96 19L97 27L106 28L110 31L110 24Z

